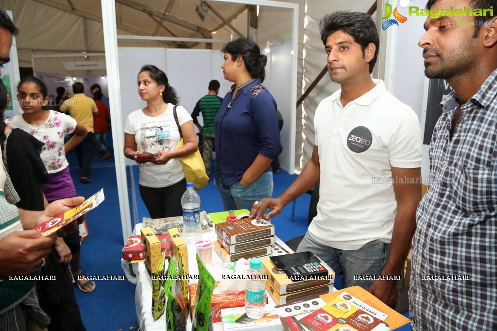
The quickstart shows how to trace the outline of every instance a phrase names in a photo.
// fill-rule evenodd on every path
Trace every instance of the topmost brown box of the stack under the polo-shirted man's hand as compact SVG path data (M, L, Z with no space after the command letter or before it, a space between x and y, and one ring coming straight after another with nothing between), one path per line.
M274 236L274 225L262 219L243 218L216 224L216 235L228 244L240 244Z

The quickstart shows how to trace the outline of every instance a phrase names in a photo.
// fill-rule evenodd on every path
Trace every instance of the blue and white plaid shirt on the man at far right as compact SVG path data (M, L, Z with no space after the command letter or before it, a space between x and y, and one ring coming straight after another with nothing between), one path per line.
M428 191L416 212L413 330L497 330L496 79L497 69L461 106L452 140L459 99L453 91L441 103Z

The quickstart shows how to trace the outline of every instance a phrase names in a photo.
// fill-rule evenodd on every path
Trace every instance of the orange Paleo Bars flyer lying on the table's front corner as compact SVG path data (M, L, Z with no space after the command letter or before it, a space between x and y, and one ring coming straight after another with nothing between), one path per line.
M328 304L300 323L313 331L387 331L410 320L359 286L322 295Z

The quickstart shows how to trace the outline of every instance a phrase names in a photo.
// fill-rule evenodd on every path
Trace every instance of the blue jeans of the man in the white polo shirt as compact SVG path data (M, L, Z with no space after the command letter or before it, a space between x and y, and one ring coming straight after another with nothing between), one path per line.
M356 251L344 251L321 244L311 237L308 231L297 248L297 252L307 251L313 252L330 265L335 274L342 274L344 288L359 285L367 290L374 280L354 280L354 275L381 275L390 251L390 244L374 240Z

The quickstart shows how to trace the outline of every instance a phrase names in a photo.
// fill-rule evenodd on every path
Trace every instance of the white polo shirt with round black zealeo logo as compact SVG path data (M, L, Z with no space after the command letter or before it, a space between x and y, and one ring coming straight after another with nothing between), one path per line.
M320 199L309 232L336 249L357 250L374 240L390 243L397 212L391 167L421 166L416 114L383 81L373 81L375 88L345 107L341 90L333 93L314 117Z

